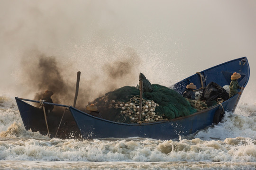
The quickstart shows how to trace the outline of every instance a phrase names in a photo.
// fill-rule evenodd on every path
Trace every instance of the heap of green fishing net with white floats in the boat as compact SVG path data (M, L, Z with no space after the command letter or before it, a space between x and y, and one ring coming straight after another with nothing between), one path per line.
M183 96L168 87L153 84L151 92L143 93L140 122L174 119L195 110ZM93 102L104 119L117 122L138 122L139 89L124 86L95 99Z

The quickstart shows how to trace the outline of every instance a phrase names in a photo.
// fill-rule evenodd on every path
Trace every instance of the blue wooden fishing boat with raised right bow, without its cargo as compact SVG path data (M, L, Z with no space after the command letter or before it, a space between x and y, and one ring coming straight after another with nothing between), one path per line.
M230 77L234 72L241 74L241 78L238 79L238 83L240 86L245 87L250 75L249 64L246 57L234 59L198 72L172 85L172 88L178 93L182 94L186 88L186 85L190 84L191 82L193 82L197 87L205 87L210 82L215 82L220 86L229 85ZM90 114L87 114L72 106L45 103L68 108L68 111L71 112L73 119L78 127L76 128L76 131L77 129L80 130L78 136L82 136L84 139L111 137L126 138L138 136L165 140L178 138L181 135L187 136L196 132L197 130L212 125L216 112L220 109L225 111L234 111L240 96L241 95L237 94L222 102L221 104L214 105L208 109L198 111L189 116L156 122L146 122L141 124L114 122L91 116ZM35 117L35 112L38 112L38 110L36 107L33 107L24 102L38 101L21 99L18 97L16 97L16 101L26 129L32 129L33 127L34 129L32 129L32 131L38 130L39 132L46 132L45 129L38 129L36 125L32 125L32 122L35 121L35 119L33 121L32 119ZM41 121L44 122L43 120ZM43 126L41 128L43 128ZM56 127L52 127L52 129L54 129L53 131L56 131Z

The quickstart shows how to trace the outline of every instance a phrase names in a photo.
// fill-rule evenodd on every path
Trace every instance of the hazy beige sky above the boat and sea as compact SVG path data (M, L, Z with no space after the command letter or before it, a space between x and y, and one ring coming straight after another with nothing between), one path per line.
M0 0L0 92L29 96L40 56L54 56L64 81L81 71L81 83L97 88L136 85L140 72L168 86L247 56L243 97L254 103L255 9L255 0ZM106 78L113 70L116 84Z

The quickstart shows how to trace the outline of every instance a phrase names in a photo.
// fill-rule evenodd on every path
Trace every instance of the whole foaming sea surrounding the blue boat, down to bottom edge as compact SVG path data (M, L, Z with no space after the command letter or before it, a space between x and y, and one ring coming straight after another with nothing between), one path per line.
M218 125L173 140L51 139L25 129L14 98L0 104L3 170L256 169L256 103L240 102Z

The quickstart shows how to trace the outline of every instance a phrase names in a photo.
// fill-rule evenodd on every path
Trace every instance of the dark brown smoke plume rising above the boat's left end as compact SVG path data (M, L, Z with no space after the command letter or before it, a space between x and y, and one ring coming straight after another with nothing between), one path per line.
M64 68L57 63L56 57L47 57L45 54L35 54L23 60L23 80L29 85L30 93L35 93L34 100L43 98L46 90L52 91L53 102L72 105L75 94L74 81L67 80L62 75Z

